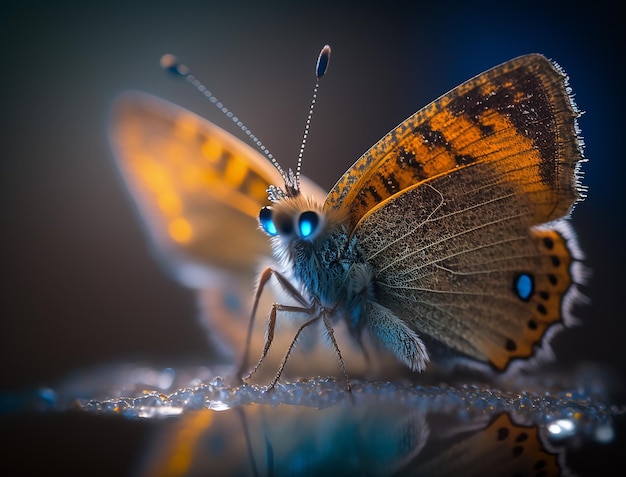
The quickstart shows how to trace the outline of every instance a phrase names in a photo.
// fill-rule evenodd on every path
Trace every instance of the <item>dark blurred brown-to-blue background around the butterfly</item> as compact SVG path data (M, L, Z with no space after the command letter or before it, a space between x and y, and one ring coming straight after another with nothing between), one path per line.
M623 373L623 21L602 2L3 2L0 7L0 386L54 385L77 369L210 354L191 291L150 255L106 137L127 89L237 134L159 67L192 66L283 165L297 157L313 64L333 48L304 172L326 189L401 120L462 81L540 52L571 77L588 199L573 215L593 270L565 362ZM404 3L404 2L398 2ZM76 443L74 443L76 444Z

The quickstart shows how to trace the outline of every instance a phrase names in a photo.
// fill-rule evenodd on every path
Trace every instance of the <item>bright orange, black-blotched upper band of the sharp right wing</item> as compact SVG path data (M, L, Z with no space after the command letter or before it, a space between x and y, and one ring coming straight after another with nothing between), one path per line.
M518 182L536 195L534 223L564 216L579 196L581 139L567 77L531 54L463 83L389 132L328 194L351 226L373 207L422 181L475 162L529 164Z

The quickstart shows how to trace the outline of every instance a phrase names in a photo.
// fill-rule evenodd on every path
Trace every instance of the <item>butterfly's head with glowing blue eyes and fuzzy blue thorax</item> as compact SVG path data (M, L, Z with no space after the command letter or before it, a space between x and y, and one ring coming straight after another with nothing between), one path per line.
M373 300L373 268L343 216L301 196L276 202L261 227L272 236L274 256L290 270L312 303L346 317L353 328Z

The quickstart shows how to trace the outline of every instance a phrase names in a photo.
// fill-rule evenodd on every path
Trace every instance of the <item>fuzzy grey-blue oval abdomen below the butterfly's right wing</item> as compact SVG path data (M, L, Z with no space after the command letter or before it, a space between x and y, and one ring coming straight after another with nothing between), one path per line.
M408 325L389 308L367 302L367 326L383 348L391 351L412 371L424 371L428 363L426 346Z

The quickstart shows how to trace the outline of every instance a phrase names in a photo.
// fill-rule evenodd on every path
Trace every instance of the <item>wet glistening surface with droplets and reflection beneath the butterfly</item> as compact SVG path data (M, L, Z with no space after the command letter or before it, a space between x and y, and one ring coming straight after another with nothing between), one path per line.
M268 390L219 376L228 372L129 364L3 396L13 456L44 449L4 465L67 475L595 475L624 442L625 408L610 403L613 378L594 367L499 383L508 390L353 381L350 393L332 378Z

